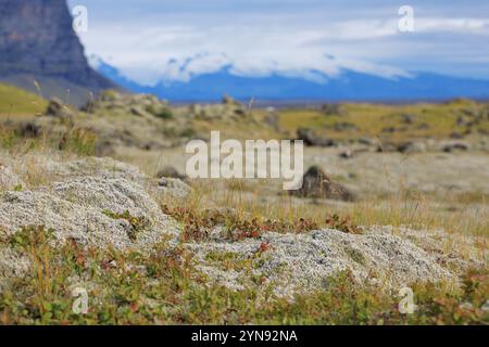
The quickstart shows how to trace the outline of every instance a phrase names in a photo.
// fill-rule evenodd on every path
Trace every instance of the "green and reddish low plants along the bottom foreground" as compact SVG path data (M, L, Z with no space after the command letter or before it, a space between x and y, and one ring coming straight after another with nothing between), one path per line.
M348 271L329 279L327 290L289 301L252 288L204 285L183 247L163 243L152 255L123 254L74 241L54 246L51 233L29 227L2 236L34 264L0 293L2 324L484 324L489 319L487 270L468 271L460 290L412 284L417 309L401 314L397 293L358 287ZM247 266L225 255L209 257L229 269ZM74 279L90 283L87 314L73 311Z

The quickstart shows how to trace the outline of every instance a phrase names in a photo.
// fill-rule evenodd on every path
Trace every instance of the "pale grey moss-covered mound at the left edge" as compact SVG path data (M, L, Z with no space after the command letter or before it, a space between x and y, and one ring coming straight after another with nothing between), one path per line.
M87 158L46 160L39 169L53 182L12 191L20 179L9 174L8 192L0 197L1 231L11 234L23 227L45 227L54 230L59 241L74 239L120 249L148 249L165 235L178 235L177 223L146 190L153 183L133 166ZM11 172L7 167L3 171ZM153 188L158 193L156 182Z

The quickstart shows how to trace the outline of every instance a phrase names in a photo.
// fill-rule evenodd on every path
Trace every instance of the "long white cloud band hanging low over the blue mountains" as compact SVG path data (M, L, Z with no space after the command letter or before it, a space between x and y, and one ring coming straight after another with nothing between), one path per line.
M214 25L181 21L183 25L175 25L133 21L126 26L95 25L82 39L89 54L101 56L126 77L151 86L162 80L188 81L227 65L241 76L280 74L316 81L323 80L321 74L335 77L342 68L406 77L406 70L413 68L394 67L396 60L413 51L429 59L429 51L419 50L423 37L451 33L489 36L489 20L485 18L415 17L415 31L409 36L399 33L398 21L396 15L384 21L311 24L236 20Z

